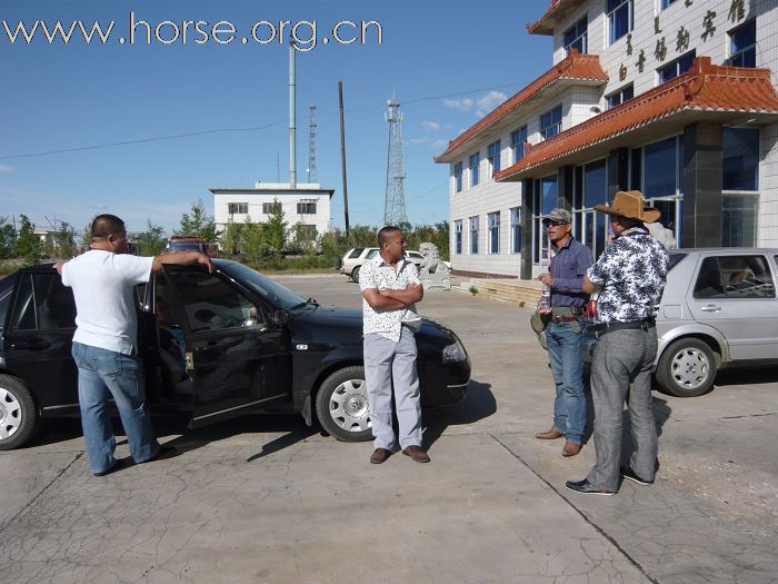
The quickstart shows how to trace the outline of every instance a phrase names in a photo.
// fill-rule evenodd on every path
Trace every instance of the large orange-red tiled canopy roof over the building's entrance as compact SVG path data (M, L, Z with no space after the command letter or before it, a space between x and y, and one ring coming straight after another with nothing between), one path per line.
M548 140L528 145L525 157L495 178L518 180L533 168L686 111L775 115L778 93L769 69L715 66L709 57L699 57L686 73Z

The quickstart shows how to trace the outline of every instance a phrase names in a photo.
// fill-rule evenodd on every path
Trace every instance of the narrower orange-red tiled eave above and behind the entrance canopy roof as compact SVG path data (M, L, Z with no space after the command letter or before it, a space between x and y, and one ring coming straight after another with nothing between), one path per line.
M459 137L449 141L448 148L440 156L435 157L436 162L446 162L445 157L453 149L463 145L481 131L492 126L498 120L502 119L509 112L522 106L531 98L536 97L540 91L545 90L552 83L559 80L586 80L586 81L602 81L606 83L609 79L608 75L600 67L600 58L597 55L581 55L577 50L570 51L570 55L562 61L559 61L551 69L538 77L521 91L516 93L510 99L503 101L493 111L481 118L468 130Z

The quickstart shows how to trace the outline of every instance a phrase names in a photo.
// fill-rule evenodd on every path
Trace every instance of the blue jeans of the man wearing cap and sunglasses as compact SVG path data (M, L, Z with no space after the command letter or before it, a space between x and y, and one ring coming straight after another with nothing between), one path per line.
M553 400L553 427L573 444L584 441L586 396L584 395L584 321L572 330L571 323L549 323L546 327L548 358L557 389Z

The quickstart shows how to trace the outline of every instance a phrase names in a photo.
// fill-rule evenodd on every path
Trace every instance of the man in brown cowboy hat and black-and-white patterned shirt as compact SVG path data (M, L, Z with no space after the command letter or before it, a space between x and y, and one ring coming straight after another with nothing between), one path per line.
M640 485L654 483L658 449L651 405L655 317L669 258L644 226L657 221L661 212L646 207L640 191L618 191L610 206L597 205L595 209L610 216L615 235L584 277L585 291L600 291L591 358L597 461L586 478L568 481L565 486L587 495L614 495L619 474ZM621 418L628 393L635 452L620 467Z

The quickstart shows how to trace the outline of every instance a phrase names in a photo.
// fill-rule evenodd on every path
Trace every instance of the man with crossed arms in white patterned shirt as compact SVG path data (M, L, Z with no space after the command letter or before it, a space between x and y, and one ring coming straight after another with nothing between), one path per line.
M396 447L391 427L391 394L395 388L399 442L402 454L428 463L421 448L421 403L416 370L415 333L421 327L415 303L425 289L416 266L406 259L406 239L397 227L378 232L380 248L359 273L365 334L365 382L370 404L372 464L381 464Z

